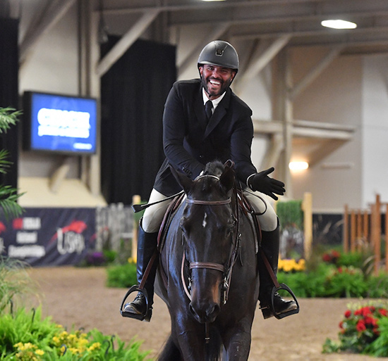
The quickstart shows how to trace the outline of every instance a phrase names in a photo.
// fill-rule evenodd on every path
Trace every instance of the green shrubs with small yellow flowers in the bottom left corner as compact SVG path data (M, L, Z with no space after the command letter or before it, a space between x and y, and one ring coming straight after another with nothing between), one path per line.
M97 329L87 334L66 331L42 319L41 308L19 308L0 317L0 360L131 360L143 361L149 352L140 352L140 343L126 345L118 337L104 336Z

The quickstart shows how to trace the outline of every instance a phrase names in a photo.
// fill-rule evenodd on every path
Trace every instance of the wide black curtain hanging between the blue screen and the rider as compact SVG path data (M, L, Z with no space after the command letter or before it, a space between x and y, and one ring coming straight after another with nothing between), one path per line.
M102 56L118 40L109 39ZM138 40L102 77L101 182L108 203L150 196L164 160L162 115L175 61L175 46Z

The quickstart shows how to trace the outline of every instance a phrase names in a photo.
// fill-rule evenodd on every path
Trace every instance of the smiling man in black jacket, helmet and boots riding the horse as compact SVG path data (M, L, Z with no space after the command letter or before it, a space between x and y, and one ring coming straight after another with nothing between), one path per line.
M262 239L260 246L276 274L279 258L279 222L274 209L253 192L267 194L277 200L285 192L284 183L268 175L269 168L257 172L250 159L253 139L252 110L231 90L238 72L238 54L231 44L214 41L207 44L198 58L200 79L175 82L166 99L163 115L163 143L166 159L157 173L149 204L181 191L170 167L195 179L212 160L233 160L236 178L259 218ZM248 192L248 189L250 191ZM253 192L252 192L253 191ZM150 205L140 220L138 232L138 283L143 279L148 262L157 248L157 235L170 201ZM259 257L259 256L257 256ZM274 282L259 258L260 308L263 317L291 315L298 308L295 300L272 295ZM154 295L154 262L145 280L144 294L126 303L126 315L150 320ZM146 315L148 310L148 315ZM143 316L143 317L139 317Z

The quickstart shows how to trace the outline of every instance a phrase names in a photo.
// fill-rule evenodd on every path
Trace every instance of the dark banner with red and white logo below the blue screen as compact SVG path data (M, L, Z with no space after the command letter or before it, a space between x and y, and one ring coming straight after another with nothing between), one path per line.
M0 213L0 255L32 266L75 265L95 246L95 208L25 208Z

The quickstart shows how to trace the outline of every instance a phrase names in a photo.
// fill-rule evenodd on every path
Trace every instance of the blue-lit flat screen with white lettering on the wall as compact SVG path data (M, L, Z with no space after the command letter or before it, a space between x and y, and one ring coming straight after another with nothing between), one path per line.
M93 154L97 142L97 99L25 91L25 150Z

